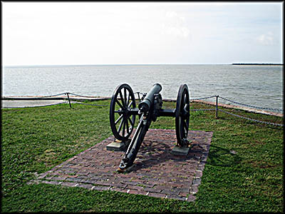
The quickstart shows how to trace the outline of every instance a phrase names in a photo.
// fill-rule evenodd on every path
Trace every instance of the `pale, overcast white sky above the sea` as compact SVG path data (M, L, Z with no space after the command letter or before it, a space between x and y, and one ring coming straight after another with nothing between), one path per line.
M1 2L2 63L283 63L272 2Z

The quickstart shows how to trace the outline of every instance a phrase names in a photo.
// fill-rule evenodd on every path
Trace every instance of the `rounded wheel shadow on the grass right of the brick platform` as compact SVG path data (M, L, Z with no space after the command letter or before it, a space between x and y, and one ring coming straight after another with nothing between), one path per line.
M211 150L207 158L207 164L222 167L231 167L239 164L242 158L235 152L226 148L211 145Z

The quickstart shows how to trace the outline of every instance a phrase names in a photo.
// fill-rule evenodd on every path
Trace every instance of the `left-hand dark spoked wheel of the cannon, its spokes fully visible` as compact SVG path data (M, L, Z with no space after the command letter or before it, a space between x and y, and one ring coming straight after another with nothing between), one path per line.
M110 103L110 126L116 139L126 141L133 132L135 115L135 95L128 84L121 84L113 93Z

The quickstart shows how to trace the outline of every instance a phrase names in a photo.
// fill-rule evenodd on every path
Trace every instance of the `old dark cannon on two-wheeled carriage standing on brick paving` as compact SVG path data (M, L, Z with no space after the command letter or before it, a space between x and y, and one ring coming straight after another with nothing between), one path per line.
M177 146L189 146L187 135L190 99L187 84L182 84L178 90L176 108L162 108L161 90L162 86L155 83L148 93L143 94L138 108L136 108L135 95L128 84L123 83L115 88L110 102L110 127L115 139L130 142L123 160L120 161L119 172L123 172L133 165L145 134L152 121L156 121L157 117L175 117ZM139 116L140 121L130 141L129 138L135 127L135 116Z

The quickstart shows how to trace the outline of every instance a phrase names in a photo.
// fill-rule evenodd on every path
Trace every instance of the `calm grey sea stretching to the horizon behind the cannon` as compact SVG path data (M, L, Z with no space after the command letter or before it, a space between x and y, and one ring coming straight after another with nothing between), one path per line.
M162 98L176 98L180 84L187 83L190 98L219 95L253 106L283 108L283 66L4 67L2 96L48 96L63 92L112 96L120 83L128 83L134 92L147 92L154 83L160 83ZM214 101L214 98L208 101Z

